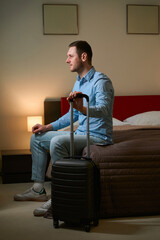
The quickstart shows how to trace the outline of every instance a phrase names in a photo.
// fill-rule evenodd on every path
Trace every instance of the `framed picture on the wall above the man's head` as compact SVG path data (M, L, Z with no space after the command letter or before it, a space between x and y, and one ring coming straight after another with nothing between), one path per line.
M44 35L78 34L77 4L43 4Z

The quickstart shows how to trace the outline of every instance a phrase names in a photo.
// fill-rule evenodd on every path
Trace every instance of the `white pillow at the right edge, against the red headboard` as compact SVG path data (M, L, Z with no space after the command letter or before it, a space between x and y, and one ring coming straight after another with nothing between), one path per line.
M160 125L160 111L139 113L126 118L123 122L131 125Z

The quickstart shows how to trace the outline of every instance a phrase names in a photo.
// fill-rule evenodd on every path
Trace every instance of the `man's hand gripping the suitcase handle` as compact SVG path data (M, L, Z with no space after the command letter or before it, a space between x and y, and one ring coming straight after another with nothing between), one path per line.
M77 94L79 93L82 93L82 92L77 92L77 91L71 92L67 100L69 102L70 99L73 99L73 107L79 112L86 115L86 107L83 106L83 98L76 98Z

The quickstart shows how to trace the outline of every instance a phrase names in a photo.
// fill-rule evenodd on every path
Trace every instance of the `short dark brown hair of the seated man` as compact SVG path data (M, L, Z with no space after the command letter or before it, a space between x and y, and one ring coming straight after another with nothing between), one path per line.
M86 41L75 41L69 44L69 47L76 47L77 49L77 54L79 57L81 57L82 53L87 53L87 59L88 62L91 64L92 63L92 48L91 46L86 42Z

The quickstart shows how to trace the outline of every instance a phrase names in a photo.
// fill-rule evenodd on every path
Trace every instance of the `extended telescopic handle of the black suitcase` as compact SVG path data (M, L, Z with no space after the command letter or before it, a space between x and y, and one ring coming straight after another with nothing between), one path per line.
M76 98L85 98L87 101L87 157L90 158L90 143L89 143L89 96L87 94L78 93ZM73 130L73 99L70 99L71 106L71 131L70 131L70 156L74 156L74 130Z

